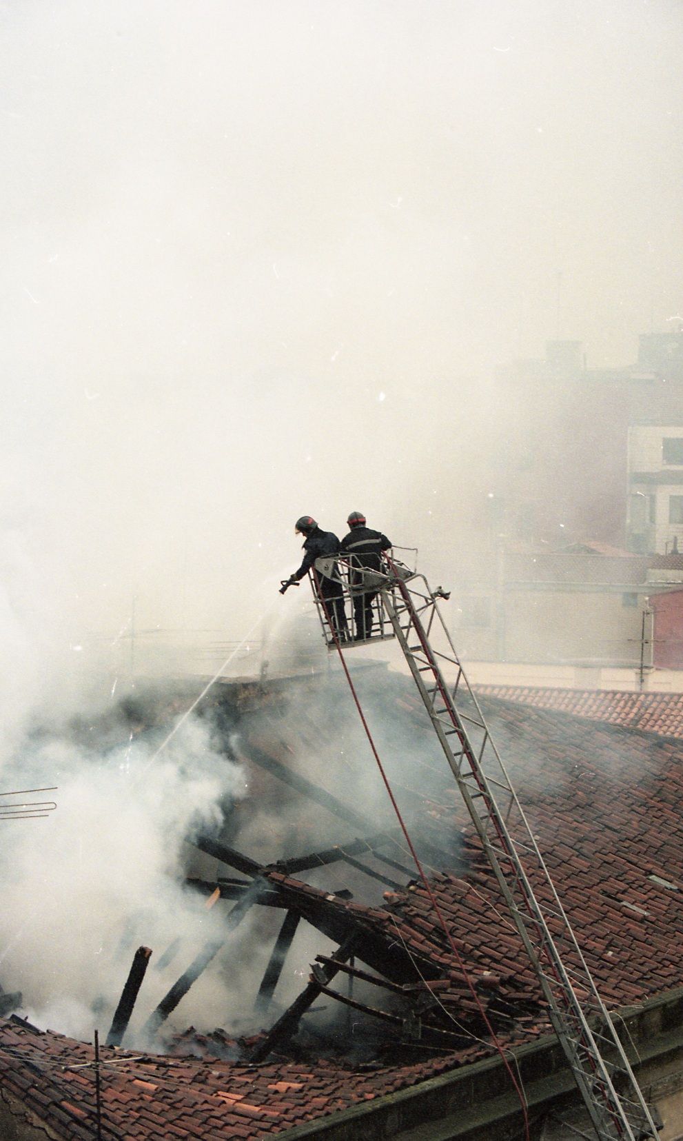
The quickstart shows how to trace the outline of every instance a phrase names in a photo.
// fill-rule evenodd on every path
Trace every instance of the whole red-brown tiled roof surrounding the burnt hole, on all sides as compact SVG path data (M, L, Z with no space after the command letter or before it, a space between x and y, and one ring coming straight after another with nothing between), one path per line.
M611 695L615 707L634 696ZM673 989L683 976L683 746L672 737L604 723L604 718L594 723L594 718L586 719L590 714L569 717L490 694L482 702L608 1006ZM453 803L446 795L452 791L447 776L445 804ZM457 871L445 869L431 879L439 908L499 1039L532 1039L545 1033L547 1019L517 931L504 914L464 808L456 803L445 810L445 820L460 836L462 852ZM324 933L361 933L358 960L393 981L389 992L373 987L377 1009L403 1019L404 1029L412 1015L420 1019L423 1034L437 1036L434 1041L439 1033L449 1037L425 1060L373 1070L318 1058L259 1066L231 1062L212 1057L218 1047L241 1046L219 1031L218 1037L188 1031L198 1057L140 1057L103 1047L103 1059L115 1060L101 1071L105 1139L231 1141L276 1135L490 1052L462 965L422 884L390 892L383 907L368 907L277 869L269 869L267 877L287 906ZM539 895L543 890L538 887ZM92 1062L92 1053L89 1045L5 1020L2 1097L15 1099L15 1109L21 1103L38 1115L58 1138L84 1141L92 1136L92 1069L65 1067Z

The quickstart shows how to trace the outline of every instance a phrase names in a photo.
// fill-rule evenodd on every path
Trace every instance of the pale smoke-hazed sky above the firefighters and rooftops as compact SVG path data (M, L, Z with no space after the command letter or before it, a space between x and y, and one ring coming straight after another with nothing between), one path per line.
M683 311L678 0L0 22L17 638L116 630L133 593L144 624L241 637L302 512L456 545L494 367L558 332L629 363Z

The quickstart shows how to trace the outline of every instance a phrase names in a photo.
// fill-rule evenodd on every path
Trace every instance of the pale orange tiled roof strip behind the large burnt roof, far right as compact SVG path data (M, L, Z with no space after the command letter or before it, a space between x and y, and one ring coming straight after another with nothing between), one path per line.
M644 733L683 737L683 694L634 694L608 689L477 686L481 697L502 697L538 709L561 710Z

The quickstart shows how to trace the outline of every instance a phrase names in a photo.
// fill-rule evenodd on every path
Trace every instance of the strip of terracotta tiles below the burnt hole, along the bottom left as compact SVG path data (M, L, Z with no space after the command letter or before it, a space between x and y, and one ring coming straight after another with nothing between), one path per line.
M0 1020L0 1097L11 1099L15 1112L36 1115L65 1141L91 1141L97 1119L93 1057L91 1045L42 1033L14 1017ZM100 1062L105 1141L255 1141L405 1089L449 1068L453 1059L405 1071L353 1073L325 1061L251 1067L101 1047ZM78 1066L82 1068L70 1068Z

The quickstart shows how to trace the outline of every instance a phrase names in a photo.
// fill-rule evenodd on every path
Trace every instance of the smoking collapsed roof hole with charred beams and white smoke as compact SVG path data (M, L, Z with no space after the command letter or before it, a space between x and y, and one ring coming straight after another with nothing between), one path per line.
M480 874L409 682L381 665L357 682L428 874ZM106 1021L133 1049L363 1065L483 1034L462 987L434 989L438 932L410 941L416 872L342 685L221 682L158 755L182 686L125 695L59 737L36 729L26 760L58 769L59 828L47 867L18 843L1 892L18 920L3 969L33 1022L83 1037ZM481 993L507 1030L530 1010L511 980Z

